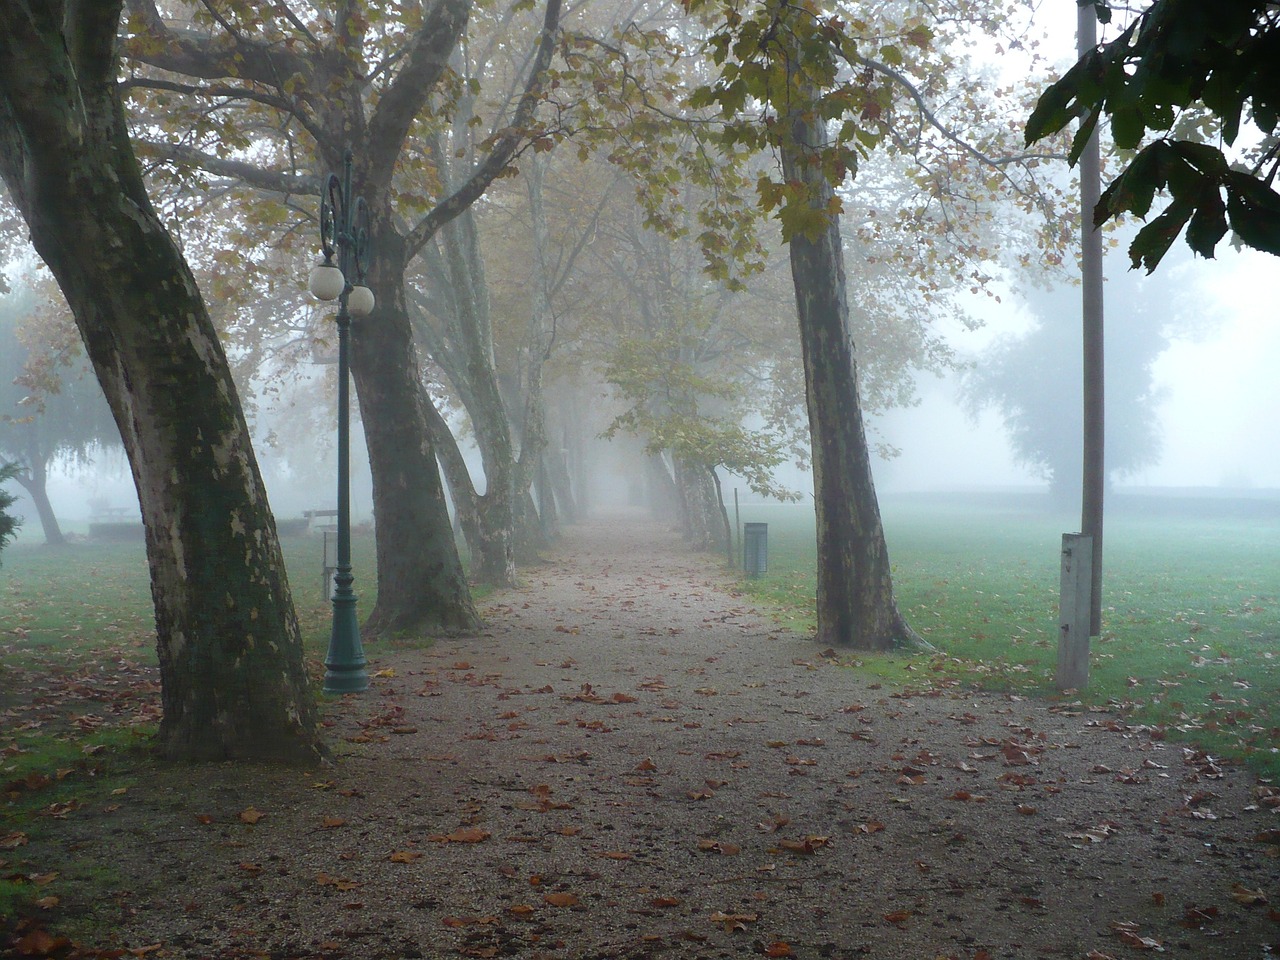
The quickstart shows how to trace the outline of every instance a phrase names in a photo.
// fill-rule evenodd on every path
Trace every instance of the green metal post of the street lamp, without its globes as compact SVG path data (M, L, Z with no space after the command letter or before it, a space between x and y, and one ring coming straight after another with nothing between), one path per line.
M369 672L365 669L367 660L360 644L360 622L356 618L356 594L351 589L355 576L351 572L351 314L347 311L347 298L352 288L351 271L357 260L357 236L352 227L356 202L351 193L351 166L352 156L348 150L343 156L340 196L337 197L334 209L338 266L347 282L338 298L338 559L333 577L333 631L329 635L329 654L325 657L326 694L355 694L369 687Z

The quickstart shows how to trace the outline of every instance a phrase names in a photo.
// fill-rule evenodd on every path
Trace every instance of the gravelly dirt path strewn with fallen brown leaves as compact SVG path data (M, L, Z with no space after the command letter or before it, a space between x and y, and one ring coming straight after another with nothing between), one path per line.
M1110 714L879 689L636 520L573 529L526 576L479 637L370 650L372 690L329 710L333 768L163 768L68 818L69 872L118 878L96 905L118 946L1084 960L1280 942L1258 840L1280 799L1243 772Z

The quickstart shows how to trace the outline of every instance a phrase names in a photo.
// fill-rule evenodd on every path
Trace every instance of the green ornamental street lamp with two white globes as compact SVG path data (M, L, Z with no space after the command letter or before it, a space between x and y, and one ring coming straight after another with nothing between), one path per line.
M333 262L337 247L338 264ZM369 207L351 195L351 151L343 155L342 179L330 173L320 195L320 250L324 261L311 270L311 293L338 301L338 566L333 582L333 632L325 657L324 691L356 694L369 687L356 594L351 589L351 317L374 310L374 293L365 285L369 257ZM351 278L356 282L352 283Z

